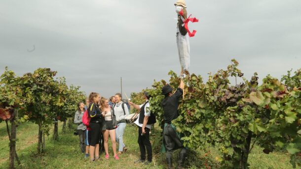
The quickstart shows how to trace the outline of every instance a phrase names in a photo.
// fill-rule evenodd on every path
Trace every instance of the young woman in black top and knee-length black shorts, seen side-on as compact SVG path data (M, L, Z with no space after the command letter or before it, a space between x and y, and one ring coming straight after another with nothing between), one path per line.
M99 137L103 124L103 115L98 106L100 94L94 92L90 93L89 102L88 113L91 118L89 123L91 128L89 133L91 136L89 153L91 161L95 161L99 159Z

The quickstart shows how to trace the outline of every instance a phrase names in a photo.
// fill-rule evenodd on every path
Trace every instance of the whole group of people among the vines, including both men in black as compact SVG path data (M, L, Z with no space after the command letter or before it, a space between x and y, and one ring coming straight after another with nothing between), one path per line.
M182 77L182 76L181 76ZM188 149L183 146L181 135L176 132L172 120L176 119L178 114L179 99L183 95L184 82L180 78L180 86L175 92L170 85L165 85L162 88L162 94L165 96L161 105L164 116L163 130L163 146L162 152L166 152L166 161L169 169L172 168L172 152L175 149L182 148L178 168L182 169L185 162ZM148 165L152 161L152 147L150 141L150 131L152 124L155 123L155 116L150 111L149 93L144 93L145 103L138 105L128 101L128 104L134 109L139 110L139 115L135 120L138 126L138 144L140 148L140 159L134 163L144 163ZM87 110L90 117L89 126L82 123L83 113ZM108 140L109 136L112 141L113 158L118 160L118 155L127 150L123 141L123 133L126 127L125 117L129 114L127 105L122 102L120 93L115 94L110 99L101 97L99 93L92 92L86 100L86 105L78 103L78 110L75 113L74 122L77 124L77 130L80 141L80 149L85 157L89 157L91 161L99 159L99 142L100 136L104 138L105 159L109 159ZM116 142L118 142L118 153L116 152ZM147 153L147 156L146 156Z

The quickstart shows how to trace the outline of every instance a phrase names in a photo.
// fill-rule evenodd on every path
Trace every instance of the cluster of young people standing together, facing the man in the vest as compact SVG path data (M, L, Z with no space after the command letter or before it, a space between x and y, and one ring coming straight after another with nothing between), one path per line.
M99 93L92 92L86 99L86 105L78 103L75 113L74 123L77 124L79 145L81 152L91 161L99 159L99 143L103 138L103 146L106 152L105 158L109 159L109 136L112 141L113 158L119 159L118 155L126 152L127 147L123 142L123 132L125 129L125 117L129 114L127 106L124 106L120 93L109 99L101 97ZM82 117L88 111L90 118L89 126L85 126ZM116 141L119 143L118 153L116 152Z

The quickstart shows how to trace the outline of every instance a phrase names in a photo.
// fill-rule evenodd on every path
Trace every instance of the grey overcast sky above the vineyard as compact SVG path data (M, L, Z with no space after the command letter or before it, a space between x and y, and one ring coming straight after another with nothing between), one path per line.
M176 0L0 0L0 72L48 67L110 97L180 72ZM207 79L231 58L250 79L301 68L301 0L186 0L199 19L190 72Z

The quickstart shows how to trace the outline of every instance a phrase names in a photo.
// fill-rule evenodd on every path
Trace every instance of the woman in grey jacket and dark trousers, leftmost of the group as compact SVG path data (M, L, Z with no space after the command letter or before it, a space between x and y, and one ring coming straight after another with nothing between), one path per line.
M85 131L86 131L86 126L82 123L82 116L83 113L85 112L85 105L83 104L83 102L79 102L77 104L77 111L75 112L75 116L74 116L74 123L77 124L77 133L79 136L79 146L80 146L80 150L82 153L85 152Z

